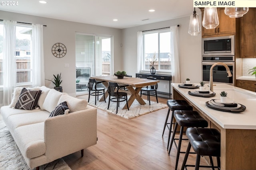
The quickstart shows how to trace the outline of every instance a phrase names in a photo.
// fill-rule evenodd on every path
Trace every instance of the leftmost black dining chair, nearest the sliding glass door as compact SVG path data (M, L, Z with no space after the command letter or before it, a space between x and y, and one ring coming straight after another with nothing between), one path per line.
M104 101L106 103L106 99L105 99L105 88L102 87L97 87L97 84L100 84L104 81L96 81L95 79L89 78L89 82L88 82L88 88L89 88L89 98L88 98L88 102L90 101L90 96L95 96L95 105L96 105L96 97L98 97L99 100L99 96L103 95L104 96Z

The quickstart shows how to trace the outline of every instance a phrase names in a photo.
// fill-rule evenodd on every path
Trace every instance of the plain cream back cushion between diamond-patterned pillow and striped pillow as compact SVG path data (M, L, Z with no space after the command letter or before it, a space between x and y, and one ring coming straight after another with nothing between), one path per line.
M48 94L44 100L44 103L42 104L41 109L47 110L51 113L53 111L53 109L59 104L58 101L62 94L63 94L62 92L59 92L53 88L50 89L50 91L48 92Z

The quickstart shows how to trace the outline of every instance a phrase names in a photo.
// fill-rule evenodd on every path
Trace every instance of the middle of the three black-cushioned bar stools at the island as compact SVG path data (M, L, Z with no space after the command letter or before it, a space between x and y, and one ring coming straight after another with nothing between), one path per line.
M202 116L200 116L197 111L191 111L191 110L175 110L174 117L176 119L176 123L175 123L174 129L173 129L173 134L172 134L172 139L171 139L168 155L170 155L170 151L172 149L172 144L174 143L176 146L176 149L177 149L176 165L175 165L175 170L177 170L180 153L185 153L185 152L180 152L181 142L182 142L182 140L188 140L188 139L182 139L184 127L202 127L202 128L204 128L204 127L208 127L208 122ZM179 137L179 143L178 143L178 147L177 147L176 142L175 142L176 139L174 139L174 137L175 137L178 125L180 125L180 137Z

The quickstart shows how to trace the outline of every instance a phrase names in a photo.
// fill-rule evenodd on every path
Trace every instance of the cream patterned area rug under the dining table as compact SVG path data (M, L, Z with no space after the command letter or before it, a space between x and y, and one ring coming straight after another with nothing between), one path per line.
M129 96L128 96L129 99ZM126 119L132 119L134 117L138 117L140 115L144 115L153 111L157 111L163 108L166 108L166 104L161 104L161 103L156 103L147 100L144 100L146 102L145 105L139 104L137 100L134 100L132 105L130 106L129 110L128 109L122 109L126 102L120 102L120 107L118 107L118 113L116 114L116 102L110 102L110 106L108 109L108 98L106 98L106 103L105 102L96 102L95 105L95 98L91 97L90 102L88 103L90 106L97 107L98 109L102 109L104 111L107 111L109 113L116 114L118 116L124 117Z

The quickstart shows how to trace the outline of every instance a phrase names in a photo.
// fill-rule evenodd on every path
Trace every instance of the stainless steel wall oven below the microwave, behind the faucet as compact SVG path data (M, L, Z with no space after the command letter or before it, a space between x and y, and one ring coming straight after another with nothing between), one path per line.
M214 83L227 83L232 86L235 84L235 62L234 56L225 56L225 57L203 57L202 60L202 80L204 82L210 81L210 68L215 63L224 63L228 65L232 77L227 76L227 71L224 66L217 65L213 68L213 82Z

